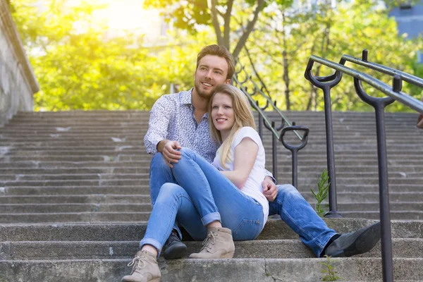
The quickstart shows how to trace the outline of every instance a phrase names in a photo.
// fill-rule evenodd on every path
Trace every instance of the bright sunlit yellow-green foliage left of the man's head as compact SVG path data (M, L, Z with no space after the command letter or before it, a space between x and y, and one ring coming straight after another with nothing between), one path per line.
M140 35L108 38L106 27L92 22L92 13L104 6L66 2L49 1L40 11L35 0L11 1L41 87L35 110L150 109L172 82L192 85L199 48L192 37L163 49L142 47ZM207 42L203 34L198 37Z

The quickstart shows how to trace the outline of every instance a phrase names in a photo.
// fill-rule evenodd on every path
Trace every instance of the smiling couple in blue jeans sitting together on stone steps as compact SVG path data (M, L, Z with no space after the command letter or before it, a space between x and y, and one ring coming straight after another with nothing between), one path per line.
M245 94L229 85L235 71L224 47L197 56L195 87L164 95L150 112L145 135L152 214L140 251L122 281L160 281L157 257L184 257L178 226L204 240L192 259L231 258L233 240L254 240L267 217L279 214L317 257L368 252L380 238L379 223L338 234L292 185L276 185L264 168L264 147Z

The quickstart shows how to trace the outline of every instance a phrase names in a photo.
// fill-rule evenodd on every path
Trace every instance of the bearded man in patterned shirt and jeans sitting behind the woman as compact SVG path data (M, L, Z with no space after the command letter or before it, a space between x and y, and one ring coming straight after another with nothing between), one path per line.
M176 183L172 164L180 159L178 149L193 149L212 163L219 144L210 137L207 103L214 87L231 82L234 71L233 57L226 48L217 45L204 47L197 56L195 87L177 94L164 95L154 104L145 135L147 152L154 154L150 166L153 205L161 185L166 182ZM317 257L358 255L368 252L379 241L379 223L340 235L326 226L292 185L276 187L272 179L269 173L262 183L263 193L269 200L269 215L279 214ZM186 246L180 241L177 223L173 231L164 246L163 255L166 259L180 258L186 253Z

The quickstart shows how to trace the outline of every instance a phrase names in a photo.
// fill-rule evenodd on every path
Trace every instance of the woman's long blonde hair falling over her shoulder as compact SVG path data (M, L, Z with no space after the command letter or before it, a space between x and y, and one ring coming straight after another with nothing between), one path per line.
M223 142L221 147L219 148L219 152L221 153L221 164L223 168L227 168L226 164L233 161L233 156L231 154L231 145L233 139L235 138L236 133L238 130L243 128L244 126L250 126L254 129L255 121L254 117L252 116L252 111L250 108L250 104L248 102L247 96L239 90L237 87L228 84L218 85L214 89L214 93L209 101L208 112L209 112L209 129L210 135L212 138L218 142L222 142L222 136L219 130L214 127L213 118L212 118L212 103L214 96L216 94L226 94L232 99L232 106L233 106L233 115L235 116L235 123L231 129L231 133L229 133L228 138Z

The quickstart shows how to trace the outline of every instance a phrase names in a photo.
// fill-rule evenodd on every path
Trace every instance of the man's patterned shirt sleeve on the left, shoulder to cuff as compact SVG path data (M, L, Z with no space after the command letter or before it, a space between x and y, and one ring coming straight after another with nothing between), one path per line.
M168 125L173 116L173 107L166 102L166 97L160 97L150 111L148 130L144 137L144 146L149 154L157 153L157 144L161 140L165 140L168 134Z

